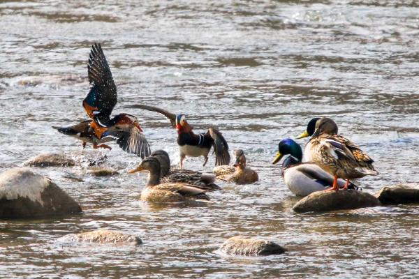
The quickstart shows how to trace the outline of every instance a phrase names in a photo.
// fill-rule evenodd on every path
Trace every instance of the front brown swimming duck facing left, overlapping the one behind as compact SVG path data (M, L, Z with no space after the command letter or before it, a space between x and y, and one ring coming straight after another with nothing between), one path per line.
M177 182L161 183L161 168L157 158L147 157L138 167L128 171L129 173L149 171L147 185L141 191L141 200L145 202L168 203L184 202L186 200L197 200L210 198L205 194L207 189L198 186Z

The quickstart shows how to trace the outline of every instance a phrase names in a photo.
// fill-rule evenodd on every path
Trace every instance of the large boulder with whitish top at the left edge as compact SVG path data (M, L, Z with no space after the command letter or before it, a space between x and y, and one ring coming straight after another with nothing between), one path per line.
M0 174L0 218L42 218L82 209L46 176L22 167Z

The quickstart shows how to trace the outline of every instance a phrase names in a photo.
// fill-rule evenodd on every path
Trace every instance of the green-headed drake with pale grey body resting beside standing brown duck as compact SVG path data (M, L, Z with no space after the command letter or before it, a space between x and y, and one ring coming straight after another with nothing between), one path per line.
M277 156L272 164L277 164L285 158L281 167L281 176L285 185L294 195L307 196L311 193L327 190L333 183L333 176L313 162L302 163L302 149L292 139L281 140L278 144ZM337 180L339 188L344 188L346 181ZM358 190L353 183L349 183L348 189Z

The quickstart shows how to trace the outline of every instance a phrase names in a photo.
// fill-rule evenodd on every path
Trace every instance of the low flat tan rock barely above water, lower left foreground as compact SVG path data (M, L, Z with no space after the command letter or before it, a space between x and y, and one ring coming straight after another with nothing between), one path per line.
M89 243L116 243L133 246L142 244L139 236L108 231L105 229L97 229L92 232L82 232L80 234L69 234L68 236L64 236L63 240Z

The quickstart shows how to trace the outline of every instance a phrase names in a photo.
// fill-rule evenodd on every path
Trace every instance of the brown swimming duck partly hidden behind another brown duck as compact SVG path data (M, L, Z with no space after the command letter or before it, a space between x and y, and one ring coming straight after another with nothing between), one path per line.
M182 182L199 186L200 188L205 188L209 191L221 190L221 188L214 183L216 178L214 174L205 174L190 169L170 168L169 154L163 149L153 151L151 156L159 160L161 181L164 183Z

